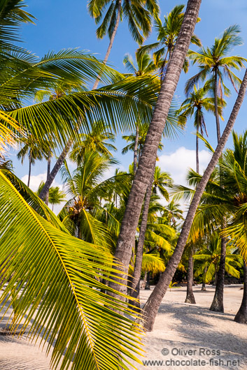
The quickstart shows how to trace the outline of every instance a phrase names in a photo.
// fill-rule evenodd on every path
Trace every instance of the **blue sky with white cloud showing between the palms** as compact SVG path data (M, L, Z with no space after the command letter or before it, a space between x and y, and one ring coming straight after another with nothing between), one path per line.
M83 50L90 50L96 54L99 59L104 58L106 48L108 46L108 38L97 40L95 36L96 26L94 20L87 12L87 1L82 0L26 0L29 6L27 10L34 15L36 25L27 25L22 29L22 38L24 39L24 46L35 52L39 57L49 50L58 51L67 47L80 47ZM161 0L161 18L168 13L175 5L185 3L174 0ZM223 30L231 24L239 24L244 38L244 45L237 47L232 51L232 54L241 54L247 57L246 42L247 42L247 27L246 27L246 0L202 0L202 7L200 10L201 22L197 24L195 34L201 38L204 46L211 45L215 37L220 36ZM155 33L146 41L147 43L155 41ZM118 29L117 36L113 45L113 49L109 58L111 64L118 69L118 71L125 71L122 64L122 59L125 53L129 52L134 56L134 52L138 45L134 43L129 34L127 24L122 22ZM195 49L192 47L192 49ZM182 102L184 100L183 88L185 81L195 74L196 67L190 68L187 75L182 73L176 96ZM227 84L230 87L230 83ZM232 89L232 98L227 99L227 108L224 112L225 121L229 117L236 93ZM241 112L235 125L235 130L242 132L246 129L246 115L247 115L247 101L241 108ZM216 124L212 115L206 116L206 125L209 132L209 142L213 146L216 145ZM222 123L222 129L225 122ZM188 122L185 133L181 134L178 140L164 142L164 152L160 165L163 170L168 170L171 175L174 175L176 182L182 182L182 177L185 177L186 168L194 166L194 150L195 150L195 135L192 135L194 128L192 123ZM132 155L121 156L120 151L125 145L118 138L116 145L119 148L117 158L122 165L127 168L132 161ZM230 145L230 142L229 142ZM181 149L182 148L182 149ZM209 156L201 145L201 167L205 168ZM28 164L24 162L22 166L11 156L14 161L15 172L19 177L27 174ZM45 163L37 163L32 168L34 176L45 172ZM40 178L38 177L36 181ZM35 179L34 179L35 180ZM57 180L59 182L59 179Z

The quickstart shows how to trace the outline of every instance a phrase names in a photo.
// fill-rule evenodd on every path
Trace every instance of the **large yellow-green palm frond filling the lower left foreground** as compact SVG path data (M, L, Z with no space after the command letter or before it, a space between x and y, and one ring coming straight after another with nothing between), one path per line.
M13 290L19 295L15 324L48 341L53 369L61 361L59 369L127 370L139 353L140 329L116 313L130 313L118 299L101 293L109 291L99 282L102 264L105 279L115 272L111 254L45 221L3 172L0 192L1 288L8 282L1 303L13 300Z

